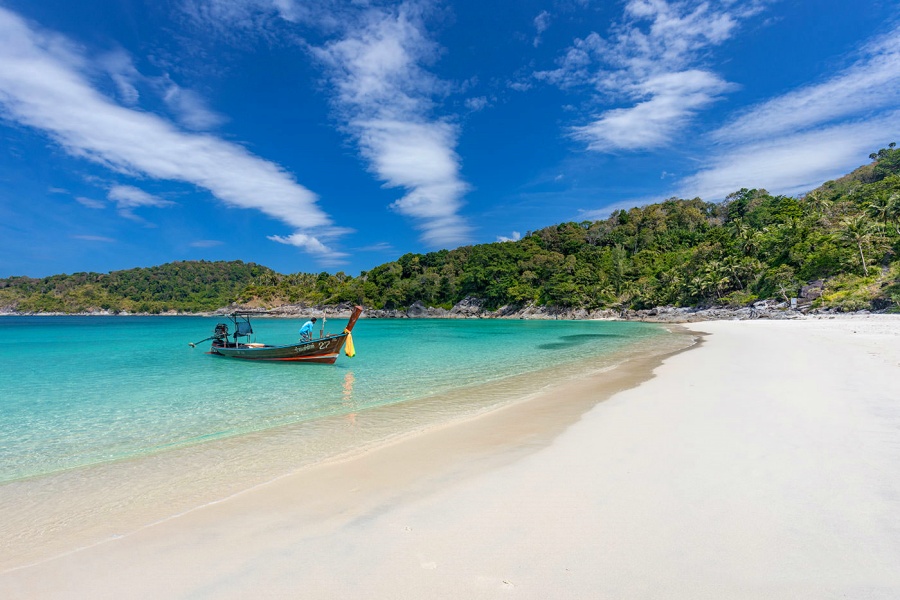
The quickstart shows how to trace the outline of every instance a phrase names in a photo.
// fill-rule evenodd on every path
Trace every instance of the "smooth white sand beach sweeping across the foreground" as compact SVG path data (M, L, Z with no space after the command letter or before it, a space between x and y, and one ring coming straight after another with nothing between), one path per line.
M900 318L689 328L650 379L283 477L0 597L900 598Z

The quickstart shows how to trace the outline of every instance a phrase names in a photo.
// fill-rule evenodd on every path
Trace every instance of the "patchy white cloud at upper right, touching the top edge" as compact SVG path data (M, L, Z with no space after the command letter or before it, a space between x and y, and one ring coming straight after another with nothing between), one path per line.
M629 0L606 38L577 39L558 68L535 73L563 89L590 86L604 103L572 135L592 150L640 150L669 142L732 84L703 68L703 53L734 35L763 0Z

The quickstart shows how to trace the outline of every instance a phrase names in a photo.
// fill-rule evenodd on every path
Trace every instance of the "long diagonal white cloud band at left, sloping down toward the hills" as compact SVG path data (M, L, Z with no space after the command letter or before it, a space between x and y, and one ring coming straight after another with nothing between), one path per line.
M316 195L280 166L104 96L86 76L95 67L70 42L3 8L0 64L3 116L45 132L73 156L120 173L196 185L229 206L262 211L298 233L346 231L334 228ZM299 246L327 251L309 241Z

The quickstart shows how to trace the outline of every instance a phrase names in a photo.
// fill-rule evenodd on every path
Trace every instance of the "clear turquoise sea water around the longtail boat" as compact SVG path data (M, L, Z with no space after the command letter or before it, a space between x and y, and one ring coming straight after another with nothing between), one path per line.
M304 365L188 345L220 320L0 319L0 482L452 395L667 333L606 321L363 319L353 332L357 356ZM259 341L284 344L301 323L258 319L254 327ZM345 323L329 319L326 330Z

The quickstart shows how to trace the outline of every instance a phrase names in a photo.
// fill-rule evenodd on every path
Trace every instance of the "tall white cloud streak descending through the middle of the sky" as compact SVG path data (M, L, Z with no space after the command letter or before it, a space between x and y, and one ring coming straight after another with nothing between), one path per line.
M438 48L420 7L366 11L340 39L313 50L336 91L335 107L374 174L406 195L391 207L412 217L432 246L467 241L460 216L468 189L459 173L457 126L431 116L447 85L425 70Z

